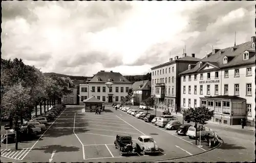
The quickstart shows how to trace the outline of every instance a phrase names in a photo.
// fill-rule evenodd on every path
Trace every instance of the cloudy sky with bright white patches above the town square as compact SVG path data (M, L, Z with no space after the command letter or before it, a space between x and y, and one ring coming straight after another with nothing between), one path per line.
M169 55L250 41L255 2L2 2L2 58L43 72L143 74Z

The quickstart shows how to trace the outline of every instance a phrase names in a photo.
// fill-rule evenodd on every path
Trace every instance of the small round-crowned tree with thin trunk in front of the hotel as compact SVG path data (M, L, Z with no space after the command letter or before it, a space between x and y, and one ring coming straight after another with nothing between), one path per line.
M197 125L199 124L206 124L208 120L210 120L214 116L214 111L210 111L206 107L196 107L196 108L189 108L188 110L183 110L183 118L184 121L195 122L196 128L196 145L197 145Z

